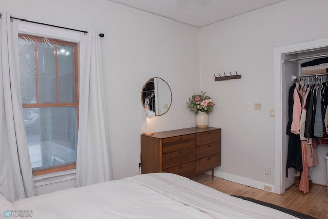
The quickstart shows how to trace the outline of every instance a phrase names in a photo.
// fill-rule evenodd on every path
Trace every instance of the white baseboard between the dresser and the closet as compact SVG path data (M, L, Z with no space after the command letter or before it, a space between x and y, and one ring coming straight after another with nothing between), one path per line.
M209 173L211 174L211 173ZM261 189L261 190L265 190L268 192L273 192L274 191L274 185L272 184L268 184L268 183L264 183L264 182L260 182L260 181L256 181L256 180L251 180L250 178L244 178L241 176L237 176L237 175L232 175L229 173L224 173L221 171L215 171L214 170L214 176L219 177L219 178L223 178L224 180L229 180L235 183L239 183L245 186L250 186L256 189Z

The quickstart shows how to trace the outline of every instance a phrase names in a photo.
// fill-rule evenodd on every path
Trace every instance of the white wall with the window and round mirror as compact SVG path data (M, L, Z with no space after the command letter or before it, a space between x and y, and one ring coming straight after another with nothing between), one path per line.
M170 85L172 105L148 123L149 131L195 126L186 107L199 91L199 30L106 0L0 0L14 17L105 34L106 105L114 179L138 174L144 132L141 89L152 77ZM187 83L188 82L188 83Z

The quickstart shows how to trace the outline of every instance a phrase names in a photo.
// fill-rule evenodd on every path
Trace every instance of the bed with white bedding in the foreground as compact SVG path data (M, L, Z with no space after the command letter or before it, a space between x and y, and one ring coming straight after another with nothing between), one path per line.
M171 173L136 175L13 203L1 196L0 208L4 218L15 219L296 218Z

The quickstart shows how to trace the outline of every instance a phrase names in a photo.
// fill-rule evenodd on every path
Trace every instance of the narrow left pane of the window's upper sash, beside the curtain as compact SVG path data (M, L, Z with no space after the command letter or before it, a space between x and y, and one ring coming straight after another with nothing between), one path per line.
M36 103L35 43L28 38L18 38L18 42L22 103Z

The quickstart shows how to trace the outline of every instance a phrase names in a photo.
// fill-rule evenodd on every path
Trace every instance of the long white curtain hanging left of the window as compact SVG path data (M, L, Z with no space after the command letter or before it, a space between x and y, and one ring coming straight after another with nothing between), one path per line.
M18 25L1 13L0 193L9 201L35 196L19 84Z

